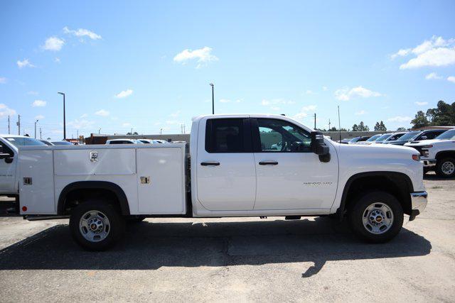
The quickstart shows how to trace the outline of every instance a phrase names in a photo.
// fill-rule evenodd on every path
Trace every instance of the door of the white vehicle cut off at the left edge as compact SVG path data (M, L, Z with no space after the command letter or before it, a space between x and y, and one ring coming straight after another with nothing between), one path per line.
M14 182L16 180L17 156L3 141L0 141L0 153L10 155L10 157L0 159L0 193L16 193Z

